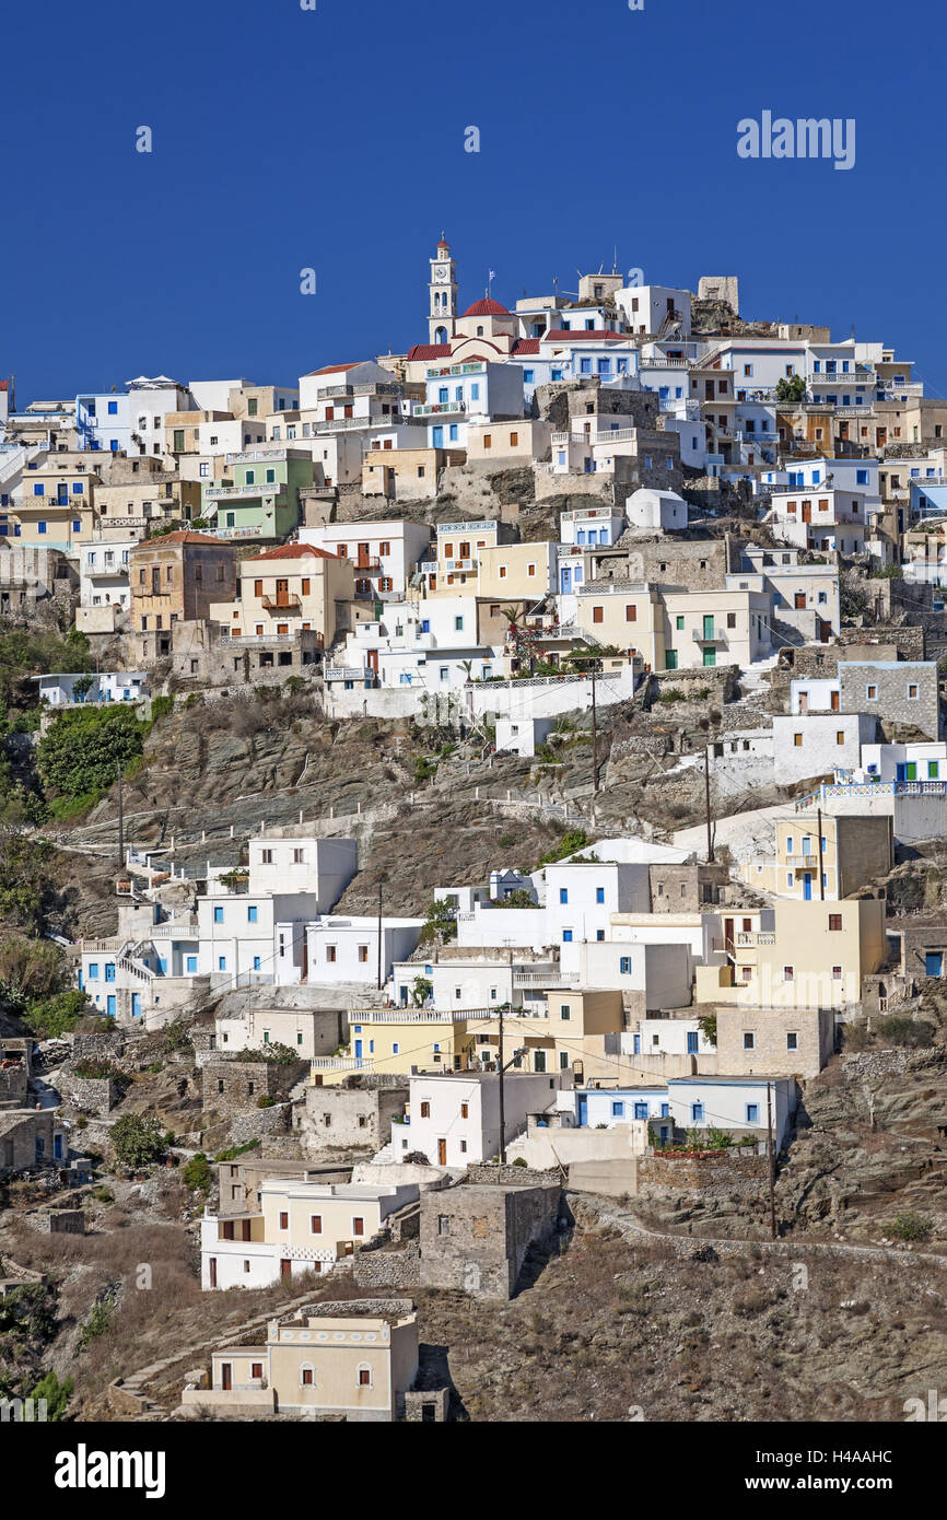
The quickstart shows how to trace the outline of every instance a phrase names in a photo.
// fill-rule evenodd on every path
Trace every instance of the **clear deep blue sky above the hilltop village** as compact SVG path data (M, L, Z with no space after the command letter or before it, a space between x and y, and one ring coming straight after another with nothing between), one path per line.
M942 0L14 5L0 375L24 404L404 351L445 228L462 307L617 245L655 283L737 274L745 316L854 324L944 395L945 43ZM765 109L854 117L854 169L740 160Z

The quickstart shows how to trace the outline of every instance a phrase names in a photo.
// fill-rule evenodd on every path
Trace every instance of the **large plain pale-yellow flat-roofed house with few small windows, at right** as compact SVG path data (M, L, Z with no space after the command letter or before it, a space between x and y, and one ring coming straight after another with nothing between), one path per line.
M862 977L877 971L888 953L885 907L883 897L781 901L772 910L772 930L760 929L760 910L728 917L727 964L696 967L696 1002L746 1008L857 1003Z

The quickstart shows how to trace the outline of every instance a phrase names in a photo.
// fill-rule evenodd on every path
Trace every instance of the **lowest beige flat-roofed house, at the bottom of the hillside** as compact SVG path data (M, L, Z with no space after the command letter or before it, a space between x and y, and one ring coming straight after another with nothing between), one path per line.
M322 1414L354 1421L404 1415L418 1376L418 1324L410 1300L316 1303L271 1319L261 1345L213 1353L210 1377L192 1374L184 1408L217 1414ZM433 1400L435 1395L430 1395ZM424 1418L424 1415L421 1415Z

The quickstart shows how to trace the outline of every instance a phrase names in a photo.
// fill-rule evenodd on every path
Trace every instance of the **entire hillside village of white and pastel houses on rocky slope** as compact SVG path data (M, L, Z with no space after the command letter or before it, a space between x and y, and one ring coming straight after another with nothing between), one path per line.
M403 354L0 382L0 1398L894 1418L947 398L734 275L461 306L441 236Z

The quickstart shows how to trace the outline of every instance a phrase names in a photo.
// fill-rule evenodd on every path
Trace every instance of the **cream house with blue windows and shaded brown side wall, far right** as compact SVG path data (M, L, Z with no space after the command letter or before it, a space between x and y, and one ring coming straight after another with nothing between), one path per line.
M889 815L850 813L816 816L798 813L777 818L771 856L746 860L742 876L748 886L792 897L798 901L836 900L860 891L894 866L894 833ZM822 880L819 879L819 872Z

